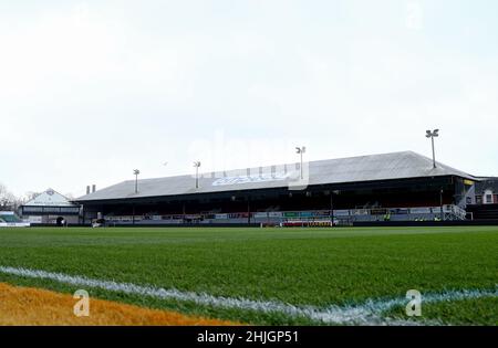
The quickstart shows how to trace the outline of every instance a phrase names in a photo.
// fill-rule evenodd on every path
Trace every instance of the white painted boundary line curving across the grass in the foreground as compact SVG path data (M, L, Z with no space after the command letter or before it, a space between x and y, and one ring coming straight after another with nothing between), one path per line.
M361 304L347 306L332 305L325 308L314 306L294 306L282 302L253 300L243 297L212 296L205 293L180 292L175 288L164 289L154 286L143 286L132 283L117 283L113 281L92 280L84 276L68 275L40 270L22 267L0 266L0 273L30 278L51 280L59 283L82 285L118 292L132 295L149 296L160 299L174 299L180 302L193 302L199 305L220 308L237 308L256 310L262 313L281 313L290 317L304 317L323 324L338 325L439 325L438 321L421 323L412 320L400 320L382 317L382 314L396 306L405 306L406 298L369 299ZM463 289L446 291L443 293L429 293L423 295L423 303L437 303L446 300L459 300L480 297L498 296L498 285L495 289Z

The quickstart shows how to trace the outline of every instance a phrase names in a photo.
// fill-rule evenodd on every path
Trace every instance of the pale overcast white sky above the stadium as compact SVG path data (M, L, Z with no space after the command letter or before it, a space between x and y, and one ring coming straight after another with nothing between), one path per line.
M495 0L0 0L0 182L414 150L498 175ZM165 162L167 166L164 166Z

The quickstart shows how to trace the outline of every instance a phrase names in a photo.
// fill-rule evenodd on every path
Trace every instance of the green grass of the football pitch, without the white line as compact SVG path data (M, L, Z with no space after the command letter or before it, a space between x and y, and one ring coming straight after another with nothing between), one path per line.
M497 255L498 226L0 229L3 267L317 308L404 298L408 289L418 289L423 316L415 323L497 325ZM0 282L63 293L82 287L2 272ZM424 294L452 291L494 294L424 305ZM249 324L320 324L280 312L103 288L89 292L103 299ZM404 305L383 316L407 319Z

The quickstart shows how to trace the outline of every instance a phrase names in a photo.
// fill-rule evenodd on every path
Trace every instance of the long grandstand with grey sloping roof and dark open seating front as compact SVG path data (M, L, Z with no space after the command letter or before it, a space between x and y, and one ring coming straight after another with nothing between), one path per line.
M83 223L330 225L464 220L476 177L413 151L124 181L75 200Z

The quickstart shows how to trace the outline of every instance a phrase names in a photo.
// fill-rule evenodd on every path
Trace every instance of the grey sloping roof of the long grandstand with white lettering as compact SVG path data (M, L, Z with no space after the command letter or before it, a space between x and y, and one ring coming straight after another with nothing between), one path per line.
M305 184L347 183L440 176L476 179L466 172L443 164L437 164L437 168L433 168L433 160L430 158L413 151L311 161L304 164L303 173L309 179L301 181L299 164L204 173L199 176L198 189L195 187L195 176L191 175L143 179L138 180L138 193L135 193L135 180L128 180L83 196L76 201L85 202L125 198L212 193L267 188L297 188Z

